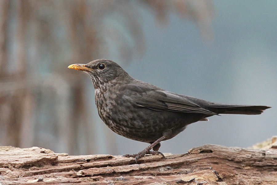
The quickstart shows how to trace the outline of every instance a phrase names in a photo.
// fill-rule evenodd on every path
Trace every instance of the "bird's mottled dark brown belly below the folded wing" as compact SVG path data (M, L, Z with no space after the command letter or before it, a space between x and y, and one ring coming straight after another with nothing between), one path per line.
M190 119L188 113L157 111L127 101L110 101L109 104L98 101L96 105L99 116L111 130L141 142L154 142L167 130L172 130L167 139L173 138L182 132L186 125L195 122Z

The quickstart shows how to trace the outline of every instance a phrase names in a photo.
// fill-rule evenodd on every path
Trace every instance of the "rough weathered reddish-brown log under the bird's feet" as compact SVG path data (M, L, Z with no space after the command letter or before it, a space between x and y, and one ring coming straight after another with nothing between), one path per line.
M32 147L0 147L4 184L277 184L277 147L245 149L218 145L193 148L162 159L112 155L67 156Z

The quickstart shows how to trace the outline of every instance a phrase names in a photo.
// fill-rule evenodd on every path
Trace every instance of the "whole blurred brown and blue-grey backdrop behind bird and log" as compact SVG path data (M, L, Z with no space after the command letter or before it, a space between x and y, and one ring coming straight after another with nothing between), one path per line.
M162 143L249 147L277 131L277 1L1 0L0 145L56 153L133 154L147 143L98 117L90 78L67 68L106 58L163 89L261 115L193 123Z

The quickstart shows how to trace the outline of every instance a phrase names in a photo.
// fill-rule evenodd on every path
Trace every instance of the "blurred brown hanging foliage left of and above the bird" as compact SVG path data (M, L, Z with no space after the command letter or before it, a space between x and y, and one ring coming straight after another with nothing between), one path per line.
M93 124L98 115L91 113L87 78L66 67L112 52L125 62L141 56L138 7L153 12L159 25L177 12L211 38L206 0L1 0L0 145L70 154L94 154L99 145L116 150L114 136ZM109 142L98 142L100 136Z

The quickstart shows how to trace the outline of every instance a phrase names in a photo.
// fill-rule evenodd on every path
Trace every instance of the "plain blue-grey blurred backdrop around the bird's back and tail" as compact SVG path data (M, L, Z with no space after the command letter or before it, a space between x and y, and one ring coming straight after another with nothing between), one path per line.
M176 14L160 29L153 24L153 15L140 9L146 53L122 67L134 78L171 92L273 108L261 115L213 116L208 122L193 123L163 142L161 152L181 154L203 144L249 147L276 135L277 2L218 0L213 5L211 42L204 42L195 24ZM148 145L119 135L116 140L118 151L112 154L136 153Z

